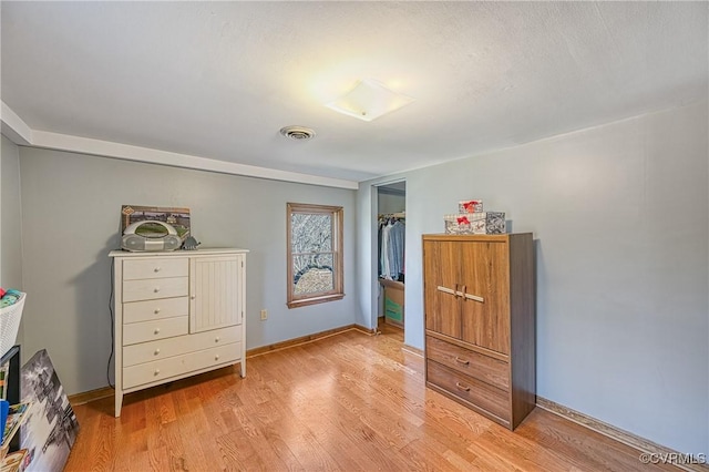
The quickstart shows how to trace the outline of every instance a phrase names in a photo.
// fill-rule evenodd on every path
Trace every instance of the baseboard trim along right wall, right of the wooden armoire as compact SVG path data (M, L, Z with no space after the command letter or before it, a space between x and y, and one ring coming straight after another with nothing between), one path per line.
M558 414L559 417L572 421L576 424L580 424L582 427L588 428L589 430L596 431L603 435L606 435L613 440L621 442L630 448L637 449L640 452L649 453L649 454L658 454L659 458L668 458L674 456L671 454L678 454L675 456L684 456L686 455L679 453L675 450L660 445L656 442L649 441L645 438L641 438L631 432L621 430L620 428L616 428L613 424L608 424L600 420L597 420L587 414L580 413L576 410L572 410L571 408L564 407L563 404L558 404L553 402L552 400L547 400L543 397L536 398L536 406L552 412L554 414ZM709 465L707 464L679 464L672 463L678 469L691 472L707 472L709 471Z

